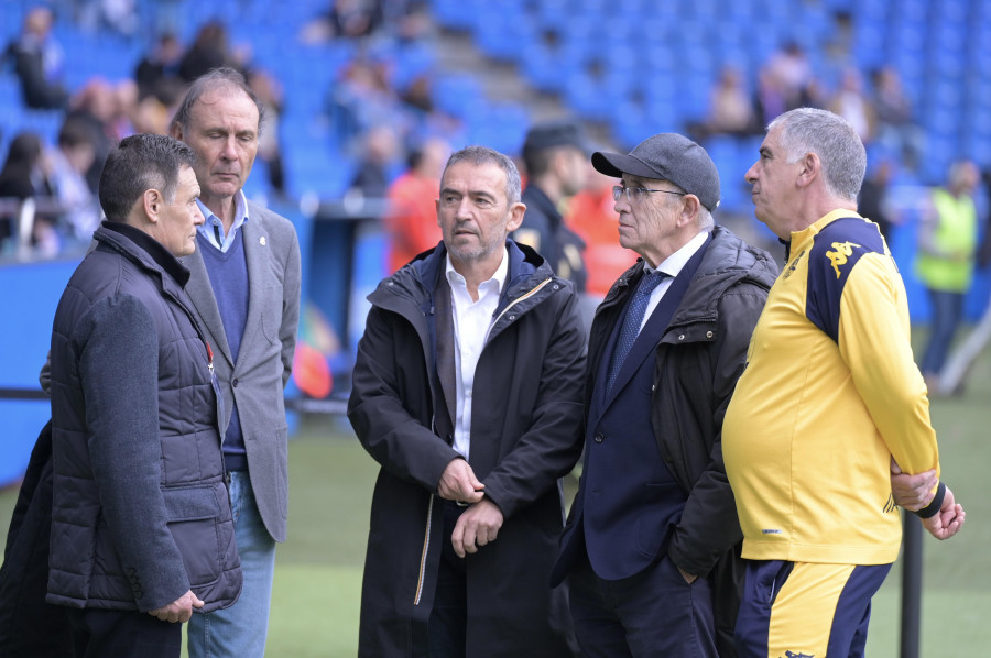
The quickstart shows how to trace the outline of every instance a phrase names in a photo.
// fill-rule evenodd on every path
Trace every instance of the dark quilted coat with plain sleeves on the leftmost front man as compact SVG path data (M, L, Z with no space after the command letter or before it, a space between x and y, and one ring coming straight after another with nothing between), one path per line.
M155 610L241 589L207 344L188 271L105 222L52 330L50 603Z

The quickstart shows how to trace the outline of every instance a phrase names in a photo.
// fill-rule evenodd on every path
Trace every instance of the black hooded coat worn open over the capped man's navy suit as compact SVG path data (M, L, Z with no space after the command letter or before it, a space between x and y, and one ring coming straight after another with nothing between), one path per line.
M623 273L596 311L589 382L596 381L602 350L643 267L641 260ZM667 552L687 573L714 574L721 656L734 655L733 626L743 584L739 558L743 534L722 462L722 418L776 277L777 265L769 253L716 227L656 347L651 425L662 459L688 494Z

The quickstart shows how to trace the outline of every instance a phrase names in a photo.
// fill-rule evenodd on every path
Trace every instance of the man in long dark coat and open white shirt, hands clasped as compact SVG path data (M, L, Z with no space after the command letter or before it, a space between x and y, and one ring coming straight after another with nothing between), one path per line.
M443 241L379 284L358 344L348 417L382 467L358 652L569 656L548 580L581 450L578 298L507 239L511 160L455 153L439 196Z

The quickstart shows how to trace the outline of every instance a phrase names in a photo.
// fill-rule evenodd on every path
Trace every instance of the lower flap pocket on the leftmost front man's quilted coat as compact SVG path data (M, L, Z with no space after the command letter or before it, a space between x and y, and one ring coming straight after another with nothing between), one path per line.
M213 485L165 489L162 494L168 530L183 556L189 583L216 582L224 569L220 526L232 523L230 509L224 513Z

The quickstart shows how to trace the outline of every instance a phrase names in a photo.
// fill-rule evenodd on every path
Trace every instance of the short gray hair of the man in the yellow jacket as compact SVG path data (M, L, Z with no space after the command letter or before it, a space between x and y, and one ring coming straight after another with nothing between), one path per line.
M850 123L834 112L798 108L771 122L781 127L781 147L788 163L815 153L823 163L827 189L847 201L857 201L867 173L867 151Z

